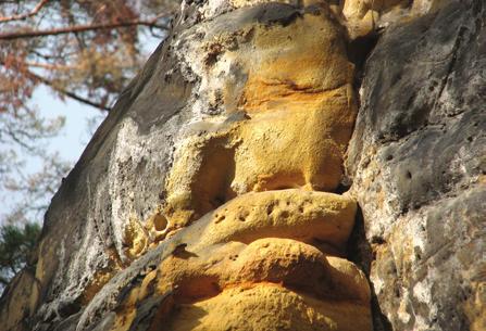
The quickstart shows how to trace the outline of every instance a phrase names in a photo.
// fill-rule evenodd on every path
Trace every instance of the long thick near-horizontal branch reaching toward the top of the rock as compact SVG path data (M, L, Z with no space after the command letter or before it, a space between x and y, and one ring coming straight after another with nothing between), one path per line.
M145 25L151 27L158 27L161 29L169 29L166 25L160 25L155 22L159 16L155 16L152 20L130 20L124 22L114 22L114 23L102 23L102 24L86 24L86 25L74 25L67 27L59 27L47 30L24 30L24 31L11 31L11 33L2 33L0 34L0 40L12 40L12 39L21 39L21 38L33 38L33 37L45 37L45 36L58 36L65 34L76 34L84 33L90 30L99 30L99 29L111 29L119 27L128 27L135 25Z

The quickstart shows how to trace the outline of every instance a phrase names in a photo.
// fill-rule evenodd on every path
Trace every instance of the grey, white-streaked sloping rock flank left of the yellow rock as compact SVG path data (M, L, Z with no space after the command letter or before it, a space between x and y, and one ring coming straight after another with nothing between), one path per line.
M128 214L144 219L161 201L174 139L189 118L183 109L194 77L183 75L170 51L179 28L122 92L52 199L34 262L42 270L38 304L23 313L25 330L62 326L82 309L83 293L101 270L129 264L123 244ZM16 290L7 289L0 307Z

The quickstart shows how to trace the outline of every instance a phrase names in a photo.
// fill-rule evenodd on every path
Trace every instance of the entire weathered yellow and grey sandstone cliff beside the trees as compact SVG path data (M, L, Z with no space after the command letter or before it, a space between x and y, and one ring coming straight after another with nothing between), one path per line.
M337 2L183 2L0 330L483 330L485 4Z

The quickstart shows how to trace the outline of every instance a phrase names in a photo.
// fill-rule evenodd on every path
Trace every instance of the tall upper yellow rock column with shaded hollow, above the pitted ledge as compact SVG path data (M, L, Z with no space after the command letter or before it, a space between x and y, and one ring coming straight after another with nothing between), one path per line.
M252 23L237 35L245 38L230 50L235 37L225 30L202 42L219 50L207 93L221 94L225 113L177 149L165 186L172 228L250 191L333 191L341 179L357 109L353 65L333 14L323 8L288 25ZM235 113L240 119L224 120Z

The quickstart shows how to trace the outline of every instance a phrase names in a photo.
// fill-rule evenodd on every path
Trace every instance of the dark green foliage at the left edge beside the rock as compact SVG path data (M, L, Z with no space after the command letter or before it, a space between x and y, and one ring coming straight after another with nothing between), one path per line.
M39 233L40 226L36 222L0 226L0 290L28 265Z

